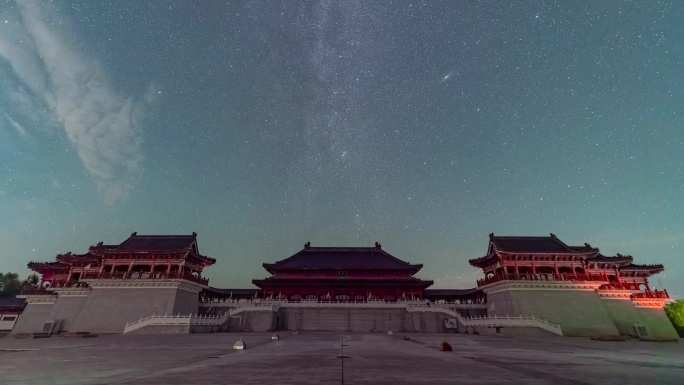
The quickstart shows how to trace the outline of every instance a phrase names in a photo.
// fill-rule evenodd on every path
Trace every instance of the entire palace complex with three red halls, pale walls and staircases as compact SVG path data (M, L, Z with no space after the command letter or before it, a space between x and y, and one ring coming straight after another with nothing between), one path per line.
M378 243L307 243L289 258L264 263L271 277L254 280L258 289L218 289L202 277L215 260L199 253L197 234L133 233L118 245L100 242L84 254L29 263L41 282L22 293L26 308L12 333L476 327L517 333L532 325L565 336L676 339L663 311L667 291L649 282L663 266L633 262L588 244L567 245L553 234L490 234L486 255L470 260L484 272L477 287L430 290L432 281L414 276L422 264L398 259Z

